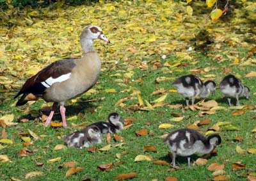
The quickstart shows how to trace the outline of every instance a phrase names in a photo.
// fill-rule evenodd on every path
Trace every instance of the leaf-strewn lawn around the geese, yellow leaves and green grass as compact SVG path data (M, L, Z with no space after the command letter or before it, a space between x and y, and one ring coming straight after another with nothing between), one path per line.
M13 13L15 9L3 11L0 118L13 116L13 123L17 124L10 123L4 129L1 123L0 155L6 155L9 160L0 159L0 179L114 180L122 173L135 172L138 176L131 180L164 180L166 177L212 180L216 176L207 169L212 163L224 164L225 173L221 175L228 180L248 180L248 175L255 177L256 79L255 74L248 76L255 71L256 62L253 54L256 28L250 14L253 3L230 4L230 12L216 22L209 19L211 9L207 9L205 2L195 1L189 5L193 15L188 12L186 3L177 1L109 1L25 8L16 13ZM49 114L51 103L38 100L15 107L17 99L13 97L26 79L49 63L70 56L81 57L79 35L89 24L100 26L111 41L110 44L94 41L102 59L99 81L92 90L66 102L68 129L45 127L42 116ZM184 98L172 86L174 79L187 74L197 75L204 81L212 79L217 86L225 75L234 74L250 88L252 100L241 98L241 104L247 107L230 109L227 99L223 99L217 89L214 97L204 100L215 100L220 106L216 111L203 114L202 110L192 110L193 107L184 106ZM157 90L161 91L152 95ZM154 102L166 94L165 99ZM143 103L139 102L140 97ZM89 123L107 121L113 111L125 120L132 120L132 125L118 132L124 141L115 141L111 135L111 141L108 143L104 137L95 152L67 147L54 150L56 145L64 144L61 136L81 130ZM183 119L173 122L175 114L181 114ZM222 143L216 148L217 153L207 157L206 164L187 168L187 160L182 157L177 158L182 169L154 163L158 160L171 162L168 146L161 136L175 129L195 128L195 122L207 118L208 124L197 127L202 134L216 124L228 123L216 131ZM59 111L54 114L54 122L61 122ZM173 126L159 129L162 123ZM148 134L138 136L136 132L141 129L147 129ZM29 130L40 138L36 139ZM237 141L237 136L243 140ZM24 138L25 141L30 139L32 144L24 146ZM111 148L100 151L109 144ZM157 152L144 152L144 146L154 146ZM20 156L24 148L29 152ZM153 160L135 162L137 155L148 155ZM195 154L191 162L203 156ZM58 157L58 161L49 161ZM71 161L75 162L75 167L83 169L66 177L70 169L67 162ZM232 169L235 162L241 162L241 168ZM97 169L101 164L111 163L113 168L109 170ZM28 177L32 171L38 175Z

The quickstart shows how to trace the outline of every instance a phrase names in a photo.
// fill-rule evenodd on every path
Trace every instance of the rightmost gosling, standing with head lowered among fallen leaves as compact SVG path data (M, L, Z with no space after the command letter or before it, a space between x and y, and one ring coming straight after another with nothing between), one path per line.
M250 100L250 89L243 86L241 81L234 75L227 75L220 82L220 91L228 98L229 106L231 104L231 97L236 97L236 106L240 106L239 97L246 97Z

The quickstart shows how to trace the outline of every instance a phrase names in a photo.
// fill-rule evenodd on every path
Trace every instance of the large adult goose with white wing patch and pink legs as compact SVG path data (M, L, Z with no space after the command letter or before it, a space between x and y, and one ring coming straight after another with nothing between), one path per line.
M54 102L52 111L45 122L45 125L49 125L54 110L60 103L63 127L67 127L65 101L90 90L100 75L100 58L93 49L93 40L95 39L109 43L108 38L104 36L102 29L98 26L86 27L80 36L83 57L55 61L29 78L15 96L16 98L22 95L16 106L24 105L29 100L37 100L38 98L44 98L46 102Z

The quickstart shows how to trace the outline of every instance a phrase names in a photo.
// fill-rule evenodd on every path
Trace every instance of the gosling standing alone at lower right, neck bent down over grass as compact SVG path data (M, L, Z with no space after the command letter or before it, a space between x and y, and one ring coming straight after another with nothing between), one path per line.
M193 129L178 129L171 132L164 142L172 152L172 166L175 165L177 155L188 157L188 167L190 166L190 155L194 153L210 153L216 145L220 145L221 138L218 134L211 134L207 138Z

